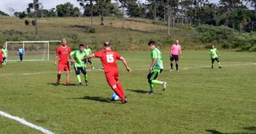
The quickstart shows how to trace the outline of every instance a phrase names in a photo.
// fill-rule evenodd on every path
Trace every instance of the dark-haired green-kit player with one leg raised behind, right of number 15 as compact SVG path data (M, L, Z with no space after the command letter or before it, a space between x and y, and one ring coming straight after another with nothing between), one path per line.
M161 52L156 48L156 42L150 41L148 42L148 46L151 50L151 58L152 63L150 65L149 73L148 73L148 83L150 86L150 91L148 94L154 93L153 85L154 84L161 84L163 86L163 91L165 91L167 82L161 82L160 80L156 80L156 78L160 75L163 71L163 60L161 58Z

